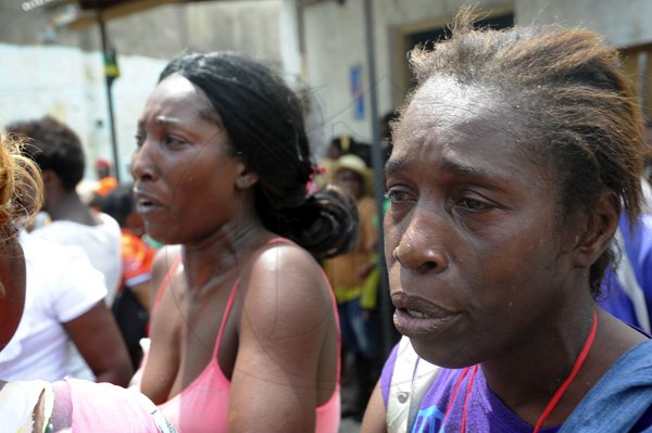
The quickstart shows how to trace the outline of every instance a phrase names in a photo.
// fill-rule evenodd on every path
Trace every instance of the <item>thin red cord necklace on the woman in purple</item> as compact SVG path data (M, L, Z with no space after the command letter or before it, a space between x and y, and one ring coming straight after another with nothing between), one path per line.
M560 400L564 396L564 393L566 392L566 390L568 390L568 386L570 386L570 384L573 383L573 380L575 380L575 377L581 369L581 366L584 365L585 360L587 359L587 356L589 355L589 352L591 351L591 347L593 346L593 341L595 340L597 331L598 331L598 314L595 311L593 311L593 324L591 326L591 331L589 332L589 335L587 336L584 347L579 352L579 355L577 356L577 359L575 360L575 364L573 365L573 369L570 370L570 373L568 374L566 380L560 385L560 387L554 392L554 394L548 402L548 405L546 405L546 409L543 409L543 412L541 413L541 416L539 417L539 420L535 424L535 429L532 430L532 433L539 432L539 430L541 429L541 425L543 425L543 422L548 419L550 413L552 413L552 411L554 410L556 405L560 403ZM462 425L460 429L461 432L466 432L466 412L467 412L467 408L468 408L468 399L471 396L471 391L473 390L473 382L475 380L477 370L478 370L478 366L475 365L473 367L466 367L464 369L464 371L462 371L462 374L460 374L460 378L457 379L457 382L455 383L455 386L453 387L453 392L451 394L451 400L449 402L448 408L443 416L443 419L446 420L448 418L448 415L449 415L452 406L453 406L453 403L455 402L455 397L457 396L457 391L460 389L460 385L462 384L462 382L464 381L464 379L471 371L471 375L468 378L468 385L466 385L464 408L462 411ZM442 422L441 426L443 426L443 423L444 422Z

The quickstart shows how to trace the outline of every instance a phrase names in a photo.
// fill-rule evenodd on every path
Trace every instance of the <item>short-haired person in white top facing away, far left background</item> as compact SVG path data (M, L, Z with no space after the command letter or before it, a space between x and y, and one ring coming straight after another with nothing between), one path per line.
M32 234L62 245L80 246L90 264L104 275L108 290L104 301L110 307L122 275L121 230L113 218L95 212L76 191L86 167L79 138L51 116L14 123L7 129L27 140L23 153L41 169L43 211L52 221ZM93 380L92 369L83 361L77 348L68 349L68 375Z

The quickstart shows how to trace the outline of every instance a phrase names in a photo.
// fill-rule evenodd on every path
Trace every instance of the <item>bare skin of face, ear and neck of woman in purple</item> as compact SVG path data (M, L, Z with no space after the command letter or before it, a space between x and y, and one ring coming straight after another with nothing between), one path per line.
M590 295L589 267L616 230L615 195L604 192L592 215L575 211L559 227L555 177L523 151L527 135L515 125L496 92L444 78L419 89L386 169L386 257L394 323L419 356L448 368L479 364L530 425L598 311L593 348L543 423L552 426L645 338ZM385 416L376 389L362 431L386 431Z

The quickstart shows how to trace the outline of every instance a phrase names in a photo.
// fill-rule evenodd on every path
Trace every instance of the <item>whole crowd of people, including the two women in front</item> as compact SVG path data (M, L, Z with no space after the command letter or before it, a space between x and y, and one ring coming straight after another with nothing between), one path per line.
M371 145L316 161L294 92L242 54L165 66L124 184L98 160L80 193L70 127L9 125L3 430L652 430L651 153L617 52L473 21L410 53L381 206Z

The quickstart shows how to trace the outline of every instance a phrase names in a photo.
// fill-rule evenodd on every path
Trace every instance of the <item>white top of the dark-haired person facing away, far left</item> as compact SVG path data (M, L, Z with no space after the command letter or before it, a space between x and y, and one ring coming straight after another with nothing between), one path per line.
M57 220L30 234L62 245L80 246L90 264L104 275L109 290L106 305L111 307L122 277L122 234L115 219L102 213L97 215L103 222L99 226Z

